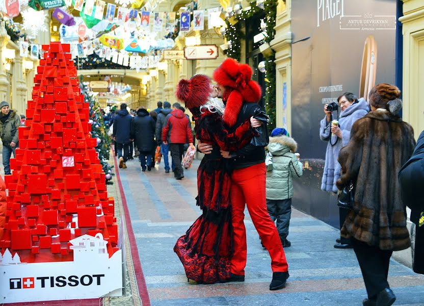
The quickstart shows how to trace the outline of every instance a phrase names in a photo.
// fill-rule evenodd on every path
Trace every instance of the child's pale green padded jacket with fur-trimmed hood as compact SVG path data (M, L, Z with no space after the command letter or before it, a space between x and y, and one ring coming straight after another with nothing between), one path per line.
M267 171L267 199L285 200L293 197L293 177L303 174L303 165L294 154L297 146L293 138L270 137L268 151L272 154L272 170Z

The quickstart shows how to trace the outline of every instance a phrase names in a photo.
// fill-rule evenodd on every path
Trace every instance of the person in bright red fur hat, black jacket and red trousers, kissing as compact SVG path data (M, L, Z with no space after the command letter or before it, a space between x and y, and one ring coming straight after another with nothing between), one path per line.
M263 111L257 104L261 98L261 90L252 81L252 69L249 65L239 64L228 58L214 71L214 79L218 83L218 97L225 103L224 123L230 132L238 129L247 118ZM268 135L266 124L260 127L260 134ZM270 253L273 271L270 290L278 290L286 284L288 265L277 228L267 210L264 146L261 142L256 144L249 143L239 150L221 150L222 156L230 159L233 168L230 194L234 256L231 259L230 280L245 280L247 245L244 210L247 206L261 242ZM200 151L205 152L205 149L203 145L199 145Z

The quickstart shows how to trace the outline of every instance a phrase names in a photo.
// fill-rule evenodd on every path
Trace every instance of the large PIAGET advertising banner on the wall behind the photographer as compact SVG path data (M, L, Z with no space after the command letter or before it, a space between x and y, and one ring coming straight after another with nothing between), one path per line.
M339 226L336 197L320 191L327 147L319 135L324 105L337 103L344 92L367 100L374 85L394 83L395 16L395 0L292 2L290 132L308 169L302 184L295 182L299 199L294 202L335 226Z

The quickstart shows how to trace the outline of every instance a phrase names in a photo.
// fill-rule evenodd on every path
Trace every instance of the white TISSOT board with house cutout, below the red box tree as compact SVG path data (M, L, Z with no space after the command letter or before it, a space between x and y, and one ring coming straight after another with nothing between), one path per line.
M15 257L7 262L4 255L0 262L1 301L15 303L121 296L122 250L109 258L105 249L107 241L99 240L89 235L72 240L72 262L28 264L20 263Z

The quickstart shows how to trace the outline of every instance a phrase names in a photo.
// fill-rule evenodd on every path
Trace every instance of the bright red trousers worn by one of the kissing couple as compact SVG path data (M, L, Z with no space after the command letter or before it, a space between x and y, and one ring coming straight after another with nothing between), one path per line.
M231 259L233 274L245 274L247 261L245 205L264 247L270 253L272 271L286 272L288 270L280 236L268 214L265 181L265 163L235 169L232 173L230 195L234 230L234 254Z

